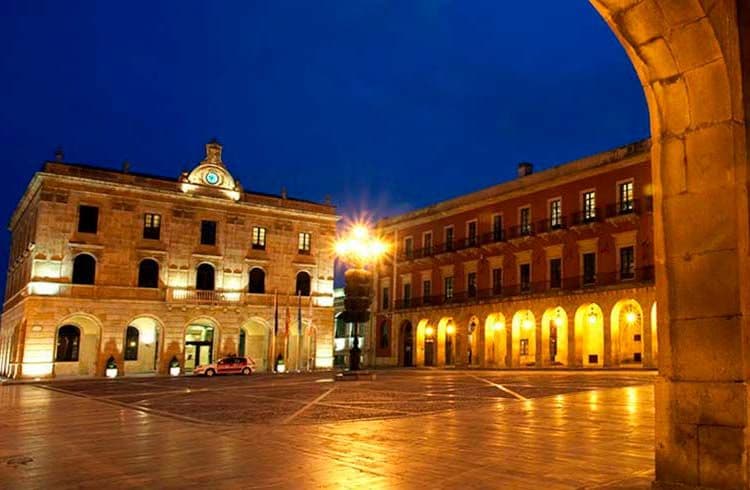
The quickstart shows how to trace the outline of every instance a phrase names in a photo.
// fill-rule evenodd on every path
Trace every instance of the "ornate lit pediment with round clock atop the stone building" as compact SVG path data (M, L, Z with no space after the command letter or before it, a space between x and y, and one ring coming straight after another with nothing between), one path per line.
M242 187L224 165L221 149L216 140L206 144L206 157L193 170L180 176L183 192L240 199Z

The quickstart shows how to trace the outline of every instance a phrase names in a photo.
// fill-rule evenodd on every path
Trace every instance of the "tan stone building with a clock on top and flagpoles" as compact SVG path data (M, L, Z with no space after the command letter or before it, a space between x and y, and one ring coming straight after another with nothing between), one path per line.
M334 207L245 192L221 152L178 179L44 164L10 221L0 375L332 365Z

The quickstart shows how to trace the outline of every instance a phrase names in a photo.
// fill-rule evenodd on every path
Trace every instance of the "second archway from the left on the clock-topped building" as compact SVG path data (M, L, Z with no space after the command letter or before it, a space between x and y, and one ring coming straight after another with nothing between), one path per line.
M150 316L128 322L123 331L123 372L126 374L158 371L163 333L161 323Z

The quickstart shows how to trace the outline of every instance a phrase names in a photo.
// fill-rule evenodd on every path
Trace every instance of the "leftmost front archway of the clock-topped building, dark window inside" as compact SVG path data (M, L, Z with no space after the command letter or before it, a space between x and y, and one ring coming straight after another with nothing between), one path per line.
M60 322L55 332L55 376L94 376L99 372L102 326L77 313Z

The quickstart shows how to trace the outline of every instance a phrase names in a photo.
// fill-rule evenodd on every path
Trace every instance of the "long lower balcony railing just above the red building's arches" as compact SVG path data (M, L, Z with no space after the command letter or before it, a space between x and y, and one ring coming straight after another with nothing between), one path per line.
M574 291L588 288L598 288L614 285L626 286L630 283L649 283L654 280L654 268L642 267L624 273L622 271L595 274L592 277L576 276L563 278L558 284L549 281L512 284L499 288L479 289L473 294L467 291L454 292L450 297L444 295L409 298L408 301L397 300L396 309L421 308L425 306L442 306L452 304L471 303L487 299L503 297L554 293L556 291ZM559 287L554 287L559 286Z

